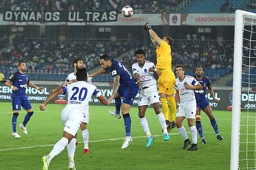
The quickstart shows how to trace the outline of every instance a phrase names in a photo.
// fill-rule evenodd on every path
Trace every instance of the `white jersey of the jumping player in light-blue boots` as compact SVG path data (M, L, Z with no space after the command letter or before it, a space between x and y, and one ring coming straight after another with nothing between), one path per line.
M157 85L154 72L148 71L151 67L156 69L155 64L150 61L145 61L143 67L140 67L138 62L132 65L133 74L137 73L139 75L139 81L141 82L140 88Z

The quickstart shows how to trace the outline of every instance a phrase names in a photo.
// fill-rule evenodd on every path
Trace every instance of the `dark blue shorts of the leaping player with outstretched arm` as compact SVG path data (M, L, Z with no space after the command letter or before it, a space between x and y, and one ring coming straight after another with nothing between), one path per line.
M129 86L129 87L123 87L119 86L117 90L118 94L123 97L123 103L126 103L128 105L133 105L133 101L137 93L139 92L139 87L137 85Z

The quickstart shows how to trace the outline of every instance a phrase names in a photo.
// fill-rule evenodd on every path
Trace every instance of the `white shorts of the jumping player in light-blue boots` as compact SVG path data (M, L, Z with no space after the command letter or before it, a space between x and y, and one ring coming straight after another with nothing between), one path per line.
M159 103L159 95L156 86L140 90L138 106L150 106L153 103Z

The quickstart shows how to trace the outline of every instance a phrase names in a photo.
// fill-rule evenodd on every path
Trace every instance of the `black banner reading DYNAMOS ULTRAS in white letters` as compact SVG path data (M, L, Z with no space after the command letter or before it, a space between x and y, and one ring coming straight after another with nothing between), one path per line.
M110 22L117 11L5 11L4 21L17 22Z

